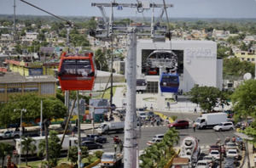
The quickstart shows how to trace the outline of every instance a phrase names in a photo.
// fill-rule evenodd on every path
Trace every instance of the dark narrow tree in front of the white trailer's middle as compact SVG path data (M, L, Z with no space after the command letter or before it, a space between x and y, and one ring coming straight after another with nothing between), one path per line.
M61 140L57 137L57 132L50 131L49 132L49 165L56 166L61 155ZM45 148L45 140L42 140L38 145L38 155L45 156L46 148Z

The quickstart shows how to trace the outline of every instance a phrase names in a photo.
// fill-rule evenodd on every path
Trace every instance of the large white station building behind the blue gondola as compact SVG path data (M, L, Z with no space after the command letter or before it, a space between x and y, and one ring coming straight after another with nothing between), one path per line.
M169 50L177 54L177 73L179 75L179 89L183 92L198 84L199 86L223 86L223 60L217 59L217 43L212 41L166 41L152 40L137 41L137 76L146 76L147 92L158 92L159 73L150 75L145 70L148 55L154 50Z

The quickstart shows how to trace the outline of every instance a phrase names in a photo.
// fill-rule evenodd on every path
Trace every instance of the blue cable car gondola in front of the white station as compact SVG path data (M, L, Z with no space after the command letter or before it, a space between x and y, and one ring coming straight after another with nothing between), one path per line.
M163 72L160 77L161 92L177 92L179 77L177 74Z

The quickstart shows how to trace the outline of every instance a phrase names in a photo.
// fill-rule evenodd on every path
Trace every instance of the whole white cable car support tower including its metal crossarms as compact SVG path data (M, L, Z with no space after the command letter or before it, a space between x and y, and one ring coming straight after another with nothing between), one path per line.
M137 115L136 115L136 87L137 87L137 36L151 36L154 40L165 41L166 26L161 26L161 20L164 9L172 7L172 4L157 4L145 1L137 3L91 3L91 6L98 7L101 10L103 23L98 25L96 30L90 31L90 36L95 36L102 41L110 41L113 36L128 35L128 54L125 65L125 77L127 85L126 93L126 115L125 115L125 139L124 139L124 165L125 168L137 167ZM104 7L111 8L109 19L106 18ZM162 8L160 18L157 23L152 21L151 26L134 25L113 25L113 7L118 8L137 8L140 12L149 8ZM141 10L142 9L142 10ZM153 19L152 19L153 20ZM137 33L140 31L140 33ZM142 33L142 31L146 31ZM147 32L148 31L148 32Z

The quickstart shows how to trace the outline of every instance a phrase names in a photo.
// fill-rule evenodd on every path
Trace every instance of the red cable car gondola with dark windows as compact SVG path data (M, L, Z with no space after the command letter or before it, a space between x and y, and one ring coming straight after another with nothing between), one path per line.
M93 53L84 55L62 53L58 78L62 90L91 91L96 78Z

